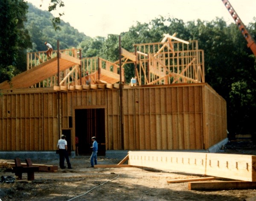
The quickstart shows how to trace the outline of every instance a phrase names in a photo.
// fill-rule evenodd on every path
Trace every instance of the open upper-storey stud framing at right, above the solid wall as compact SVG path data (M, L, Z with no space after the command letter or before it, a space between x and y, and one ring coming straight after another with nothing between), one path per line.
M138 53L136 76L139 85L204 83L204 51L198 41L135 44Z

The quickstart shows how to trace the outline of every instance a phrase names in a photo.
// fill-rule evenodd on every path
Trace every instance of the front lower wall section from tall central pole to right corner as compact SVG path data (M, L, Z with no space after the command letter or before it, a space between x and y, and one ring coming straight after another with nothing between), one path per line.
M124 149L202 149L202 85L123 91Z

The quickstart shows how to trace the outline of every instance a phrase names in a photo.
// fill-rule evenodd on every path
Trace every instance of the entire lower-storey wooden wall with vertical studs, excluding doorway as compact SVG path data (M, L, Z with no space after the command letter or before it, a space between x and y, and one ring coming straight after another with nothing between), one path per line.
M70 118L74 125L75 109L104 108L106 149L121 149L118 89L67 91L60 98L61 129ZM123 89L122 101L124 149L208 149L227 137L226 102L206 83L132 87ZM46 88L3 92L0 150L55 150L57 103L57 92Z

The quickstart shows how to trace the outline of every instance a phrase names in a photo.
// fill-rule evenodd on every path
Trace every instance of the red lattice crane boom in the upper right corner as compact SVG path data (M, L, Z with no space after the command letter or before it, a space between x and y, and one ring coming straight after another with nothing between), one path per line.
M233 9L233 7L229 3L229 1L228 0L222 0L222 2L226 6L227 10L229 11L229 13L233 17L233 19L235 20L236 25L238 26L239 30L243 34L244 38L247 40L247 47L250 47L251 51L256 56L256 43L253 40L253 37L247 31L246 27L244 26L244 23L241 21L240 17L236 13L236 11Z

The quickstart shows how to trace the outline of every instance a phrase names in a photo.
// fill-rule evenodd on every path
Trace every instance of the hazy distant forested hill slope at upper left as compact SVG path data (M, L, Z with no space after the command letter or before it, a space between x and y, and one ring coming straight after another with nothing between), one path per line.
M82 40L90 38L62 20L59 25L61 30L55 31L51 21L53 16L49 11L37 9L31 3L28 3L28 6L25 28L29 31L32 41L30 52L46 50L45 41L52 44L53 49L57 49L57 40L59 40L60 49L69 49L79 46Z

